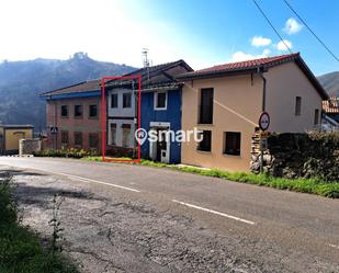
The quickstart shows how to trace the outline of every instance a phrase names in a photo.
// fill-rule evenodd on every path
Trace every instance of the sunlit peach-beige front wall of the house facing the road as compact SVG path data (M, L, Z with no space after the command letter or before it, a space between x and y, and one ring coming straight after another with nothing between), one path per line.
M182 128L211 129L212 151L196 150L196 143L183 143L181 161L187 164L248 171L251 136L261 111L262 80L235 76L187 82L182 91ZM214 88L213 125L199 125L200 90ZM240 156L224 155L224 132L241 133Z

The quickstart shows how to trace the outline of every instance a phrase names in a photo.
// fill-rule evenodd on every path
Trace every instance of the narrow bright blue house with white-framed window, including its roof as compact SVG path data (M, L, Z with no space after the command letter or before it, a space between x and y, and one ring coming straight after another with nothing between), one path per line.
M166 133L181 129L181 88L182 83L176 76L193 71L184 61L145 67L132 75L140 75L142 103L140 127L148 134L161 135L162 139L142 144L142 158L165 163L179 163L181 144L168 139Z

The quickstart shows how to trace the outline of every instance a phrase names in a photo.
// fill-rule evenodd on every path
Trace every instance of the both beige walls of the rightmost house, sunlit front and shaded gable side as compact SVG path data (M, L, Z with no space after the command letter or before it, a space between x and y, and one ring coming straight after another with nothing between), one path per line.
M267 78L267 111L271 116L269 130L305 132L314 125L315 109L321 110L321 98L296 66L289 62L271 68ZM249 171L251 137L258 126L262 106L262 79L258 76L231 76L185 82L182 91L182 129L211 129L212 151L196 150L196 143L183 143L182 163ZM214 88L213 125L199 125L200 90ZM302 115L296 116L295 96L302 96ZM241 133L240 156L224 155L224 132Z

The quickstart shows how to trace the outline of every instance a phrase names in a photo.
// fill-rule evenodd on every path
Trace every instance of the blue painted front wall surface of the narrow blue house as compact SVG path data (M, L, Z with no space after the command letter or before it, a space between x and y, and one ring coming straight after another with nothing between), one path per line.
M154 109L154 92L142 93L142 128L149 130L150 122L170 123L171 130L181 129L181 90L167 91L167 110ZM149 141L142 145L142 157L149 158ZM181 144L171 141L170 163L180 163Z

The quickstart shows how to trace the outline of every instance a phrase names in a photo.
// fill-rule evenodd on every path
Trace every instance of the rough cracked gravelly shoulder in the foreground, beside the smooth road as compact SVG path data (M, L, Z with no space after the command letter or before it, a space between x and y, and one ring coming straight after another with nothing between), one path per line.
M52 235L53 197L64 197L64 248L81 272L339 272L339 264L205 226L185 209L117 189L0 167L18 183L23 224ZM161 203L161 205L160 205ZM159 205L157 205L159 204Z

